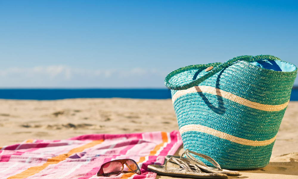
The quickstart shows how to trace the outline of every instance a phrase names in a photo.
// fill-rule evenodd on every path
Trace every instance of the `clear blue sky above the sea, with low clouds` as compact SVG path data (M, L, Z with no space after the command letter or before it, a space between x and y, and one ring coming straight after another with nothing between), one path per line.
M298 65L297 32L297 1L2 0L0 88L166 88L240 55Z

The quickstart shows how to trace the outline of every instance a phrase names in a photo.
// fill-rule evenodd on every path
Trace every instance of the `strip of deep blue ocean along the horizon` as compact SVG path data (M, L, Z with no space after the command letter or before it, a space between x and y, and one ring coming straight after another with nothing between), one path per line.
M67 98L168 99L169 89L0 89L1 99L55 100ZM298 101L293 89L290 101Z

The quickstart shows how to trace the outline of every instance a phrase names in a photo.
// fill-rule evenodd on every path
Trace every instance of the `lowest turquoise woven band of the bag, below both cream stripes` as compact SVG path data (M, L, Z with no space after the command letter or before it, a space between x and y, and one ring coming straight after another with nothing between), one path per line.
M199 136L199 138L198 138ZM269 163L274 142L267 146L243 146L225 139L216 138L201 132L187 132L181 135L183 147L200 151L217 161L225 169L254 169ZM208 142L207 142L208 141ZM222 150L216 146L225 146ZM199 158L209 166L208 161Z

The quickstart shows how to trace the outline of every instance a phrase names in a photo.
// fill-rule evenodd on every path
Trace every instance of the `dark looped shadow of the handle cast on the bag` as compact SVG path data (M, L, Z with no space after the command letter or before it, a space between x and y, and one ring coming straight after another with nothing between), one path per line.
M226 68L222 69L221 72L218 74L217 78L216 78L216 84L215 84L215 88L220 89L220 77L221 74L224 72ZM195 72L195 74L193 75L193 80L196 80L198 77L198 74L200 72L202 72L203 70L198 70L197 72ZM197 89L197 88L196 88ZM201 96L201 98L203 99L204 103L215 113L223 115L226 112L226 108L224 107L224 101L223 98L219 95L216 95L217 98L217 107L214 106L208 99L207 97L203 94L203 92L201 92L199 89L197 89L198 94ZM217 94L220 94L220 90L216 90Z

